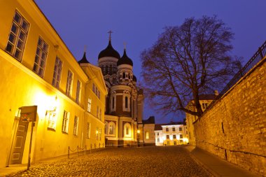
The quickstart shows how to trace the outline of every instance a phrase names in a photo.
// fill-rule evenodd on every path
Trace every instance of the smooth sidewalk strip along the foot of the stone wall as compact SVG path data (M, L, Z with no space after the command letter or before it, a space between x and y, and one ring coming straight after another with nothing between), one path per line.
M255 177L257 174L251 173L246 169L242 169L235 164L217 157L205 150L195 148L195 146L184 146L190 152L193 159L202 167L207 169L213 176L226 176L226 177Z

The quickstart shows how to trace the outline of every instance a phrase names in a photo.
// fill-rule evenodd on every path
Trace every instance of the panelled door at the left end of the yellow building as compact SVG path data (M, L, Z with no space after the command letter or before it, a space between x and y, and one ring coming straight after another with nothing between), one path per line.
M18 131L17 131L17 134L15 134L15 141L13 144L13 151L12 151L11 158L10 158L11 159L10 164L21 164L22 163L22 157L23 157L23 151L25 147L28 125L29 125L29 122L22 122L22 120L20 120L18 124Z

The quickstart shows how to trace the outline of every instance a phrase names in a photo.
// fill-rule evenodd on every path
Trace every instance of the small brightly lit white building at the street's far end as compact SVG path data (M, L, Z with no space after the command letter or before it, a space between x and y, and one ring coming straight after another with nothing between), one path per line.
M184 122L155 125L156 146L176 146L188 143L188 130Z

